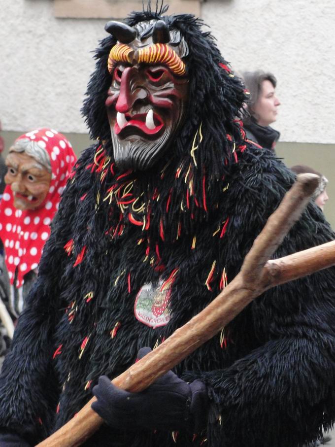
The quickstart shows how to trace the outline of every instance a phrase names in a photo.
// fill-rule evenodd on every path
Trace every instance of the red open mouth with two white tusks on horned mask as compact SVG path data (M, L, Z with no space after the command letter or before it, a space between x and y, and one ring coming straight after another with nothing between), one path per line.
M119 135L123 129L135 127L146 135L155 135L163 126L164 122L162 117L152 109L147 113L138 113L136 115L117 112L114 133L115 135Z

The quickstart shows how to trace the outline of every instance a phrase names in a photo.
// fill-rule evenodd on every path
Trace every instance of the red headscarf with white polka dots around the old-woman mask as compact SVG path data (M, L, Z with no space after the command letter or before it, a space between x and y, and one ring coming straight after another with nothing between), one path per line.
M52 129L37 129L17 138L36 141L49 154L52 177L49 192L37 209L22 211L13 205L11 187L6 185L0 203L0 238L5 249L5 263L11 284L18 267L16 287L24 275L36 269L52 221L66 186L76 156L67 138ZM16 141L17 141L16 140Z

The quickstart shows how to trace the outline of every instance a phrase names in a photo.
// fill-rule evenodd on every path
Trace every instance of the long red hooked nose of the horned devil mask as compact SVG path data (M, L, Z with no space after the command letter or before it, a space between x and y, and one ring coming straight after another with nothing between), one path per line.
M127 67L122 73L115 109L117 112L127 113L137 100L144 100L147 95L146 90L140 85L137 69Z

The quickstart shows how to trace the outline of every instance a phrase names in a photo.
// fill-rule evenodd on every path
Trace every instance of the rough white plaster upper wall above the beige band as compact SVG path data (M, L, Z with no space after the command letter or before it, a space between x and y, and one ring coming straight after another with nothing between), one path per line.
M0 120L6 131L87 132L79 110L106 19L59 19L53 6L53 0L1 0ZM207 0L201 16L234 70L261 68L277 76L281 141L335 143L329 121L335 1Z

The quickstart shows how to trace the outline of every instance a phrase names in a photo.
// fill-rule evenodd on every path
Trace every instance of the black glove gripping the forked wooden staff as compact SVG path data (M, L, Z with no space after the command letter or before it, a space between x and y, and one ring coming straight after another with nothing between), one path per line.
M140 349L138 358L150 350ZM200 380L186 383L172 371L139 393L124 391L101 376L93 393L98 401L92 409L114 428L128 425L128 429L186 429L197 433L206 425L209 403L205 385Z

